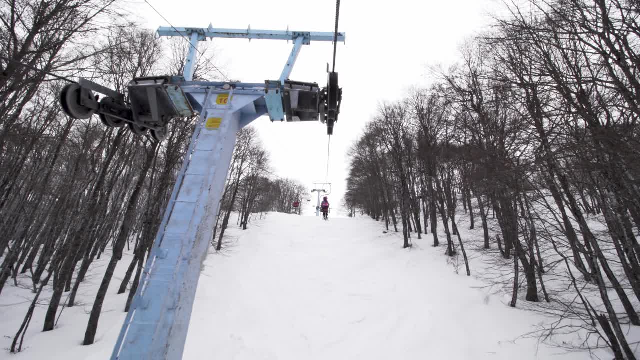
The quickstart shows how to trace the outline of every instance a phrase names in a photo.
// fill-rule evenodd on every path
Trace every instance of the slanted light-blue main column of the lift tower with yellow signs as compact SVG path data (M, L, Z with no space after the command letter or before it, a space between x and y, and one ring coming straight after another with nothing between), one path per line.
M182 358L236 134L262 115L255 104L261 91L234 95L233 90L211 89L194 97L202 115L112 360Z

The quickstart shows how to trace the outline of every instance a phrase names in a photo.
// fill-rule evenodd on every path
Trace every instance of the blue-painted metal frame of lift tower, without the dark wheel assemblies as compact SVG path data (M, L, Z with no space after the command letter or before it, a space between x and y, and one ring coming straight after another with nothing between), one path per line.
M333 41L333 33L202 28L160 28L160 36L188 36L191 48L180 84L200 111L195 132L164 212L140 286L111 355L112 360L177 360L195 300L202 261L212 239L236 134L267 113L284 120L282 85L301 45ZM207 38L295 40L279 81L221 83L192 81L198 42ZM339 42L345 35L340 33ZM228 99L218 101L218 99ZM175 124L174 124L175 126Z

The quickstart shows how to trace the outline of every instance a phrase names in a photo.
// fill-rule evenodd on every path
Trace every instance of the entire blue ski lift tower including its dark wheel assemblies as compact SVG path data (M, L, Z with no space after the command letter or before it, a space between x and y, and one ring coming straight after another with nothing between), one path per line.
M342 89L335 69L328 72L328 84L323 88L317 83L291 81L289 76L303 45L344 43L344 33L212 26L159 28L157 33L161 37L188 38L191 49L184 76L132 79L127 95L79 79L60 94L63 109L70 117L90 119L97 114L108 127L128 126L136 135L148 134L156 141L164 139L169 125L180 126L180 119L198 116L112 360L182 358L200 269L212 239L237 132L268 115L271 121L320 120L332 135L340 112ZM293 49L276 80L193 81L198 43L213 38L291 40ZM104 97L100 99L94 92Z

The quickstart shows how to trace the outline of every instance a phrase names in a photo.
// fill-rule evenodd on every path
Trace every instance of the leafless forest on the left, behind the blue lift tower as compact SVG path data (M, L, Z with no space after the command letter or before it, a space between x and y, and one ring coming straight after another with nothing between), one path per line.
M114 0L0 3L0 296L9 286L33 291L11 352L22 350L36 306L48 308L42 330L56 329L63 308L76 306L93 261L106 252L110 260L84 345L95 341L125 249L134 257L118 293L128 294L122 296L129 307L193 133L196 119L180 119L158 143L126 127L105 127L97 117L74 120L61 111L60 88L78 76L122 92L132 78L182 74L188 43L141 30L121 6ZM214 53L200 51L207 57L196 65L195 79L221 75ZM291 212L303 192L300 184L271 174L257 133L244 129L212 246L222 249L232 211L241 213L237 225L246 229L252 214ZM51 299L40 299L45 288Z

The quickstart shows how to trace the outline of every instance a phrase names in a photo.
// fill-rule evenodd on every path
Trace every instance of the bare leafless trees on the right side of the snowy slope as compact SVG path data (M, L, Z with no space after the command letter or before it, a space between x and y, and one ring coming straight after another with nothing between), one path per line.
M509 10L458 65L431 69L435 85L380 105L349 154L346 204L404 247L431 234L467 275L468 255L488 259L480 276L512 307L549 316L544 341L636 359L640 3ZM483 235L463 238L462 224Z

